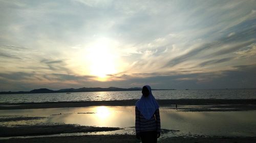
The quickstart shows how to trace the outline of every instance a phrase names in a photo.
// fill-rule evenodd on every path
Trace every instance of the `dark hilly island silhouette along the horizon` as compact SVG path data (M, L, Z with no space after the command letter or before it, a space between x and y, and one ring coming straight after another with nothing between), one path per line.
M72 93L72 92L109 92L109 91L141 91L142 88L79 88L79 89L61 89L61 90L49 90L49 89L35 89L32 91L18 91L18 92L0 92L0 94L33 94L33 93ZM175 90L175 89L152 89L152 90Z

